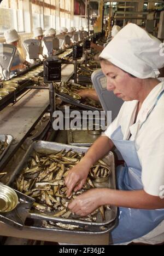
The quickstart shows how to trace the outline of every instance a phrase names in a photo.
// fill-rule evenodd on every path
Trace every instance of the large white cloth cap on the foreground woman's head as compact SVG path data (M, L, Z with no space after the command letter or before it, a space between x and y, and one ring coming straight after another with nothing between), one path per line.
M136 24L128 24L99 55L138 78L156 78L164 66L164 45Z

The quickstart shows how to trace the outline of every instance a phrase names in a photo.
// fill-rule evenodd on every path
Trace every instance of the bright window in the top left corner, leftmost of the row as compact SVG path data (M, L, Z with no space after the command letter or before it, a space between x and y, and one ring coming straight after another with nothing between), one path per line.
M24 32L24 15L22 0L3 0L0 5L0 34L5 30L16 29Z

